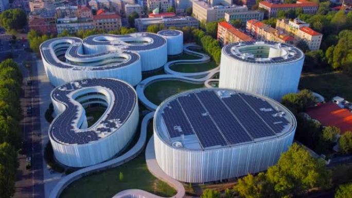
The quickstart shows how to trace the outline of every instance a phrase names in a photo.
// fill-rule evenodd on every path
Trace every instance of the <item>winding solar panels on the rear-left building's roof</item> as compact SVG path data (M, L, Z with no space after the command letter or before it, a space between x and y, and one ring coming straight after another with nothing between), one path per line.
M126 55L130 55L130 57L131 57L129 60L127 60L125 62L110 63L110 64L106 64L104 66L82 66L82 65L75 65L74 63L66 63L66 62L62 62L62 61L54 58L54 56L56 56L56 52L57 52L54 49L55 46L53 48L50 48L51 43L53 43L53 42L57 43L60 40L62 40L62 42L65 42L65 43L67 43L67 40L72 42L71 46L68 49L66 49L67 50L66 53L68 53L70 56L72 56L74 58L88 59L88 58L101 57L101 61L103 61L103 60L105 60L105 58L102 56L108 55L111 53L116 53L115 51L103 51L103 52L94 53L94 54L90 54L90 55L80 54L78 51L80 49L83 50L83 45L82 45L82 40L80 40L78 38L72 38L72 37L56 38L56 39L50 39L48 41L45 41L41 45L41 51L42 51L42 55L43 55L44 59L50 65L54 65L54 66L60 67L60 68L67 68L67 69L73 69L73 70L86 70L87 68L89 68L90 70L115 69L115 68L120 68L120 67L130 65L139 59L139 56L137 55L137 53L132 52L132 51L123 51L122 53L124 53ZM116 53L116 56L120 56L120 55L121 55L121 53ZM96 60L94 60L94 61L96 61ZM87 64L89 64L89 62L87 62Z

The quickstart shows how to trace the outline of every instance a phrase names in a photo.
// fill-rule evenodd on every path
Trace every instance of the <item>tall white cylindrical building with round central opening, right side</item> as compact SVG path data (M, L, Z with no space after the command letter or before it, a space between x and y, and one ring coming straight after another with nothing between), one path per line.
M219 87L280 101L284 95L297 92L303 61L300 49L284 43L229 44L222 48Z

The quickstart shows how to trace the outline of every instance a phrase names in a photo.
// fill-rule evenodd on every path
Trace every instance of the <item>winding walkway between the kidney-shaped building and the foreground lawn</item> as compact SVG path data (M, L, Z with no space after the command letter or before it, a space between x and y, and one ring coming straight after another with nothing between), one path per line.
M117 158L114 158L109 161L105 161L104 163L101 163L98 165L94 165L94 166L80 169L78 171L75 171L75 172L63 177L58 182L58 184L55 186L55 188L52 189L52 191L50 192L49 198L58 198L63 189L65 189L69 184L73 183L74 181L76 181L77 179L79 179L83 176L92 174L94 172L98 172L98 171L102 171L102 170L106 170L106 169L120 166L122 164L127 163L128 161L135 158L136 156L138 156L139 153L143 151L143 148L146 144L148 123L149 123L149 120L153 117L154 117L154 112L150 112L143 118L143 121L142 121L142 124L140 127L139 139L138 139L137 143L133 146L132 149L130 149L125 154L123 154Z

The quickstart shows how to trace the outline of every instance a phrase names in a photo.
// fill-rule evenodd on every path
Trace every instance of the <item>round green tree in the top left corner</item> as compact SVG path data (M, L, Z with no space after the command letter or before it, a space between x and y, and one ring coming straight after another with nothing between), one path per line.
M27 15L22 9L8 9L0 14L0 25L8 32L22 29L27 24Z

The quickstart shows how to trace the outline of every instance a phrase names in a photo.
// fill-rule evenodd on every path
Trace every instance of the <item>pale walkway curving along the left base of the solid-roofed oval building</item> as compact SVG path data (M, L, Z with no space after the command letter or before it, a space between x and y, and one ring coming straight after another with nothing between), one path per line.
M148 145L146 147L146 160L149 171L159 178L160 180L166 182L170 186L172 186L175 190L177 190L177 194L175 194L174 198L182 198L185 196L185 188L183 185L177 180L168 176L164 171L157 165L155 159L154 152L154 138L153 136L150 138ZM162 196L157 196L150 192L139 190L139 189L129 189L121 191L115 194L112 198L163 198Z

